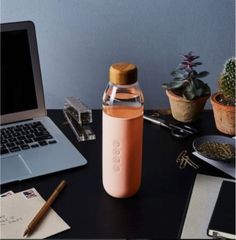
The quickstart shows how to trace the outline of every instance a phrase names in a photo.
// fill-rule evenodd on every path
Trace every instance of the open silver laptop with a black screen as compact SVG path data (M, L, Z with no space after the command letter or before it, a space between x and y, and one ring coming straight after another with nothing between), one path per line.
M55 87L56 88L56 87ZM87 161L46 115L34 24L1 24L1 184Z

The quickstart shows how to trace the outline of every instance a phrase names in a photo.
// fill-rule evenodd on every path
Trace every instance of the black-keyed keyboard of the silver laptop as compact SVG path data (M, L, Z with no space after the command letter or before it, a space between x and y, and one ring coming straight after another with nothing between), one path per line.
M57 143L41 122L1 128L0 131L1 155Z

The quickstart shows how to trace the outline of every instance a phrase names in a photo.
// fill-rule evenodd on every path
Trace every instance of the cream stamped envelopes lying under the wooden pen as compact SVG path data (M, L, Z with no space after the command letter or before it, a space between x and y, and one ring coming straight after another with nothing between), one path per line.
M31 188L7 197L1 197L0 203L1 239L21 239L30 221L45 201L36 189ZM63 219L53 209L50 209L35 231L25 238L42 239L69 228Z

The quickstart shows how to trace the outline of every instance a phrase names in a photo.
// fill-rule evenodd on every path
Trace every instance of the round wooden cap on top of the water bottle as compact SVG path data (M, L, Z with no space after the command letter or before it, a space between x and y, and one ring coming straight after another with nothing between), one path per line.
M117 85L128 85L137 82L138 70L131 63L115 63L109 70L110 82Z

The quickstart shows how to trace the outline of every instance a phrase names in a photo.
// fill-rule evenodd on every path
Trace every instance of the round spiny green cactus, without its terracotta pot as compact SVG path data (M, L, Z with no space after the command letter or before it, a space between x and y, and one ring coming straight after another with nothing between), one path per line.
M235 105L235 62L232 57L225 62L223 72L220 75L219 92L222 94L224 104Z

